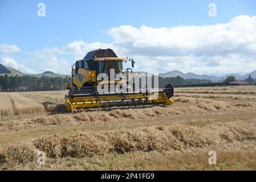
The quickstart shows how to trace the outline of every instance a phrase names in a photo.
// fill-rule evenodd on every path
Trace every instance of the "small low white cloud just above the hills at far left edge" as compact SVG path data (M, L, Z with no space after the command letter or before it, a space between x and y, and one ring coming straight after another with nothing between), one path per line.
M13 58L9 56L2 56L1 64L17 69L18 71L21 71L23 73L30 73L30 74L35 73L32 69L27 68L23 64L17 63L17 61L15 61Z

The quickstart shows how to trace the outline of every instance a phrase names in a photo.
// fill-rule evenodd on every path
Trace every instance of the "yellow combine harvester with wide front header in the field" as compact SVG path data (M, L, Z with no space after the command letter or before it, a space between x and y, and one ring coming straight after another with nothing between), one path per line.
M134 67L133 59L119 58L112 49L97 49L76 61L72 65L72 85L67 85L70 91L65 96L67 111L173 104L172 84L152 86L149 78L136 79L131 68L123 68L123 62L128 61Z

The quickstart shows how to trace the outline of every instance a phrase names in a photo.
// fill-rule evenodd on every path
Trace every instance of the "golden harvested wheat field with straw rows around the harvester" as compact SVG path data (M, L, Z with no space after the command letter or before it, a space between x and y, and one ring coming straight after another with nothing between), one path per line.
M256 86L177 88L172 106L89 113L66 113L66 93L0 93L0 169L256 170Z

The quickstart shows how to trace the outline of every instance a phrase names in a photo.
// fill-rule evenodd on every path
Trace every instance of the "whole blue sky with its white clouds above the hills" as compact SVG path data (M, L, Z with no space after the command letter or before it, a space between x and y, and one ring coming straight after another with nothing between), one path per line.
M40 2L46 5L45 17L37 15L37 5ZM209 3L216 4L217 16L208 15ZM250 53L255 46L252 31L240 30L241 28L237 30L237 26L233 25L223 30L230 31L232 35L243 34L245 31L246 35L252 36L253 42L249 42L251 46L243 52L241 47L249 41L246 38L235 43L236 47L231 45L231 51L231 38L217 42L223 48L222 51L216 50L216 42L207 44L205 50L205 46L201 45L203 43L198 40L198 34L208 35L209 38L205 40L208 41L212 31L209 28L206 30L204 26L212 26L212 30L218 30L218 24L230 23L231 19L241 15L247 15L247 18L238 18L238 24L245 23L246 26L251 28L252 25L254 28L255 7L256 1L1 0L0 63L22 69L23 72L39 73L50 70L70 73L70 65L74 60L86 55L87 52L83 51L90 51L99 46L98 48L115 48L114 51L120 56L135 57L138 60L136 69L141 71L167 72L180 69L183 72L208 75L225 75L227 72L247 73L256 69L250 66L253 60L255 61L255 55ZM188 33L187 29L193 30L194 26L198 30L194 31L194 34ZM164 40L160 42L162 28L166 28L164 33L169 38L173 38L174 35L177 38L178 35L173 34L172 28L180 28L181 36L185 31L184 35L189 43L196 39L196 44L199 42L201 46L186 47L186 41L178 42L180 39L176 42L166 39L170 40L170 43ZM154 36L159 39L153 42ZM215 36L216 40L225 39L225 33ZM224 47L225 44L229 48ZM182 51L184 46L185 51ZM233 55L230 55L230 52ZM249 58L241 60L244 55ZM230 59L237 61L235 64L234 60L232 61L234 67L230 69L220 63L221 60ZM250 69L239 69L239 65L244 65L245 61L249 61L247 67Z

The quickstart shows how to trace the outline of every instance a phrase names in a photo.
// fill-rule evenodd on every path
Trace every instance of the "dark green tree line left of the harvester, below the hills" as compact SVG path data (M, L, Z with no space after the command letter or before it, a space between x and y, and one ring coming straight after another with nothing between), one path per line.
M71 77L0 76L0 92L64 90Z

